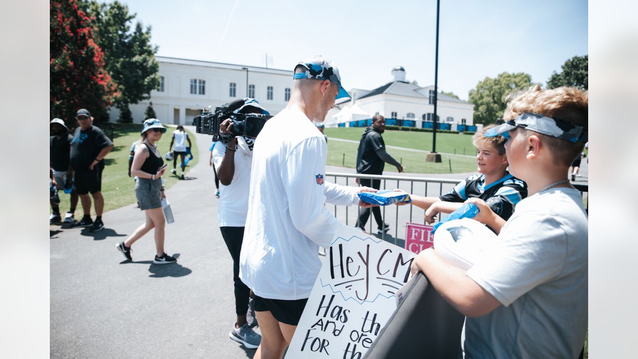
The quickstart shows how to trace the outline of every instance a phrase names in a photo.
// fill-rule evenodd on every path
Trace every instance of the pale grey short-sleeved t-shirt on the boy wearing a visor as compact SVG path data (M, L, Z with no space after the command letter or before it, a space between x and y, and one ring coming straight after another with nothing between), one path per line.
M577 358L587 331L587 215L572 188L523 199L466 275L501 305L466 318L465 358Z

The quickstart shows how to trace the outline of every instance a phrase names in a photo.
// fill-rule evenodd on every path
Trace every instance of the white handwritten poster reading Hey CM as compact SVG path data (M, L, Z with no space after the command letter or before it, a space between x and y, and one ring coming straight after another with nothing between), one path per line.
M360 359L396 309L414 254L339 225L286 358Z

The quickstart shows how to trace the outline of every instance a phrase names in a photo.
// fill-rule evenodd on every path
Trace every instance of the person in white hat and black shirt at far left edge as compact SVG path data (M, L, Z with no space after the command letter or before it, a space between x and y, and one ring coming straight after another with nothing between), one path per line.
M64 193L70 193L71 195L71 208L66 215L64 215L64 223L73 222L73 213L78 205L78 194L73 187L73 169L70 166L70 152L71 141L73 136L69 134L69 129L64 125L64 121L59 118L54 118L50 122L49 137L49 167L53 169L54 179L56 181L56 188L58 190L64 190ZM51 201L51 217L49 217L49 223L57 223L62 220L60 215L60 208L58 204Z

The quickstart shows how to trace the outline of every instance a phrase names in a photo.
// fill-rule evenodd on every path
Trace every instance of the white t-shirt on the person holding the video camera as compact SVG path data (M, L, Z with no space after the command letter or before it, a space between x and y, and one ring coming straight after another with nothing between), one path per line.
M219 171L226 145L215 142L212 148L212 160ZM219 184L219 202L217 205L217 221L219 227L244 227L248 212L248 192L250 189L250 167L253 162L253 151L243 137L237 137L235 151L235 174L230 185Z

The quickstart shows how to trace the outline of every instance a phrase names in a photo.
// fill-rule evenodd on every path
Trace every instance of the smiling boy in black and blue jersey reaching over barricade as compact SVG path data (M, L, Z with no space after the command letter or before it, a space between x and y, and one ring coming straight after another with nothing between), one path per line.
M426 222L431 224L438 213L452 213L470 198L486 201L491 210L504 220L514 213L514 206L527 196L527 185L509 174L502 136L486 137L485 132L496 125L485 126L472 137L477 148L480 174L473 174L459 182L450 192L440 197L410 195L412 204L426 210Z

